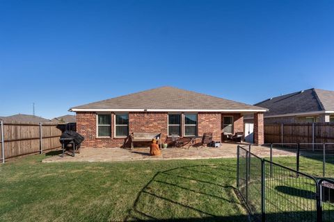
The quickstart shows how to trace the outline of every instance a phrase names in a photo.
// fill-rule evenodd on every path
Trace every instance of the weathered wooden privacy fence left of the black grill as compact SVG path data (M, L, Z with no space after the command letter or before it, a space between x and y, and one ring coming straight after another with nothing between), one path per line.
M55 123L3 123L1 121L1 160L60 148L61 130Z

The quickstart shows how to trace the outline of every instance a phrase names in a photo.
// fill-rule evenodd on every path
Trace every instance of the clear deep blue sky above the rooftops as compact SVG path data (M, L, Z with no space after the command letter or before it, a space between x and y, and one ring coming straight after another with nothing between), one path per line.
M256 103L334 90L334 1L0 1L0 116L171 85Z

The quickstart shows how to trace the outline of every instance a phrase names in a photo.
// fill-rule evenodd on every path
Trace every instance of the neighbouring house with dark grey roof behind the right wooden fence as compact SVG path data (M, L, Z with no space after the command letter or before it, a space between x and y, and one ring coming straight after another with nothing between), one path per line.
M269 109L264 123L313 123L334 121L334 91L305 89L277 96L255 105ZM253 121L253 117L245 117Z

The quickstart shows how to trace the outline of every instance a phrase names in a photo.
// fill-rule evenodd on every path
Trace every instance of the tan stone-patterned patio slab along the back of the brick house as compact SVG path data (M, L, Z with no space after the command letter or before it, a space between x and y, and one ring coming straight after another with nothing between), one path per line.
M75 157L70 155L51 156L42 162L118 162L133 160L198 160L211 158L237 157L237 144L222 144L221 148L166 148L162 149L161 156L150 156L149 148L81 148L81 153ZM252 153L260 157L269 156L269 148L252 146ZM284 151L280 155L292 155Z

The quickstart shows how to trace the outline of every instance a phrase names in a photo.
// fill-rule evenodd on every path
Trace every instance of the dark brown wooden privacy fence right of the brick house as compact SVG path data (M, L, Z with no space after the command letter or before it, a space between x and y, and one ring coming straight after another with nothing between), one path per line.
M334 123L265 124L265 143L333 143Z

